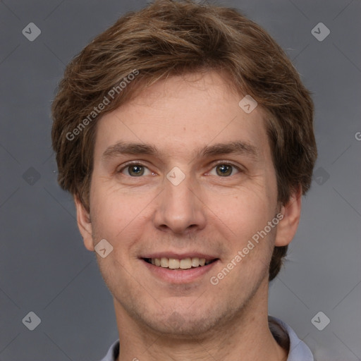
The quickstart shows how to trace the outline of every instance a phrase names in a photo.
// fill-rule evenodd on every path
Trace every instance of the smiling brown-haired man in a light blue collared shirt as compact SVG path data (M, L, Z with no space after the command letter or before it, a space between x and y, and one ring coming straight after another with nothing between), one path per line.
M233 9L155 1L66 68L59 184L114 297L103 359L309 361L268 317L317 157L282 49Z

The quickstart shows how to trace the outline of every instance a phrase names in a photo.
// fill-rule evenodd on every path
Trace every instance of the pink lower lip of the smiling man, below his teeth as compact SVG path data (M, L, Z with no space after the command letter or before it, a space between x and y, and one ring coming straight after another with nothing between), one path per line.
M219 260L217 259L216 261L207 264L207 266L200 266L190 269L169 269L154 266L153 264L145 262L145 260L142 259L142 262L149 269L149 271L152 272L152 274L169 283L190 283L192 281L196 281L201 276L204 276L204 274L207 274L207 272L209 272L218 261Z

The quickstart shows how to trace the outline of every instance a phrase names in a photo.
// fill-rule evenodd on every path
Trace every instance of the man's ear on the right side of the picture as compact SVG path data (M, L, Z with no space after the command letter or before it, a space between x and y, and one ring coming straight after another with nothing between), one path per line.
M300 222L301 207L302 189L301 186L299 186L290 196L290 200L288 200L287 204L281 207L283 219L277 226L275 246L281 247L283 245L288 245L290 241L293 240Z

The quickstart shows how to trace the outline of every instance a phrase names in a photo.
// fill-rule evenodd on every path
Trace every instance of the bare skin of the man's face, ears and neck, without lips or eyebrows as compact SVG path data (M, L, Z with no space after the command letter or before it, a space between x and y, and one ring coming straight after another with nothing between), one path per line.
M243 96L229 81L214 71L161 80L97 124L90 214L77 197L75 204L85 247L94 251L103 238L114 247L97 259L114 296L119 361L287 359L267 323L268 269L274 246L295 235L300 190L284 206L277 202L264 112L240 109ZM238 141L257 153L197 153ZM153 145L159 153L104 158L117 142ZM126 168L128 161L144 166L143 175ZM221 164L233 165L231 173L219 175ZM179 185L166 178L175 166L185 175ZM210 283L279 212L278 226L217 285ZM166 251L202 252L219 261L176 284L159 279L139 258Z

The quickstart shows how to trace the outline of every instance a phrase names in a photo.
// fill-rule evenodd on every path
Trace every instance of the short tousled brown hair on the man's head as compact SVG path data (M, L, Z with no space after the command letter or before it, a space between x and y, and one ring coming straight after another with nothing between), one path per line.
M51 109L61 188L90 210L99 116L94 114L92 121L89 114L130 73L138 72L101 115L134 97L140 87L211 69L226 72L234 89L250 94L267 115L279 202L286 204L298 187L304 195L317 147L312 99L298 72L274 39L237 10L190 0L156 0L141 11L126 13L68 64ZM279 273L286 251L287 246L274 248L269 280Z

